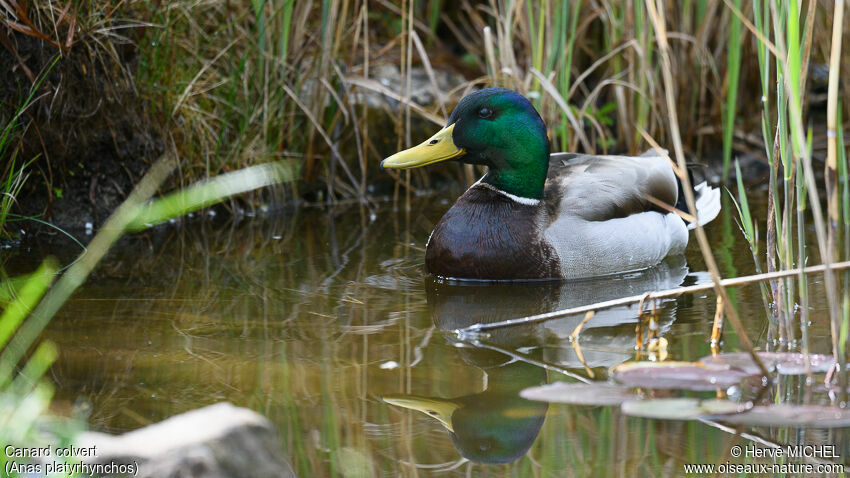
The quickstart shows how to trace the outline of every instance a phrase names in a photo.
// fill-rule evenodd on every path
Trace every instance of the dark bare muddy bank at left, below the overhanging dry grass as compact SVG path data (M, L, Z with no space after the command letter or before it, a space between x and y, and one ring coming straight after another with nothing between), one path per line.
M4 124L43 77L15 144L21 160L34 158L15 212L61 228L102 223L164 150L161 121L134 86L136 47L80 41L60 51L20 33L6 40L0 49L0 71L10 72L0 75Z

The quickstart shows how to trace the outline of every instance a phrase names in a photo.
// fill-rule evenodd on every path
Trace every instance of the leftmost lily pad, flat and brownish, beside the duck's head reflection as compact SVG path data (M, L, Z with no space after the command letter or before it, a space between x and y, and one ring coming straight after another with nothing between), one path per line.
M607 382L555 382L526 388L519 396L528 400L572 405L619 405L636 398L629 387Z

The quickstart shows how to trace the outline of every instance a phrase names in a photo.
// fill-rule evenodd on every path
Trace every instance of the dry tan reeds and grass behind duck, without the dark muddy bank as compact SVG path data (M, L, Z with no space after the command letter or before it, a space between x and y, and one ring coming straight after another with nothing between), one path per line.
M289 158L302 181L289 186L288 197L362 200L391 177L378 173L380 159L426 134L421 119L442 122L471 88L493 85L532 98L555 150L634 154L648 148L640 131L672 143L644 2L104 1L86 11L70 2L20 5L3 0L5 24L59 50L98 46L93 58L120 60L120 46L137 42L137 88L170 125L188 179ZM722 0L662 7L684 153L716 159L728 134L718 125L730 93L730 25L751 18L751 7L738 11ZM427 23L417 20L426 15ZM742 89L759 77L747 22L736 75ZM828 41L812 38L813 63L824 61ZM462 61L452 53L459 49L466 50ZM395 71L392 78L385 67ZM442 71L467 79L441 83ZM419 72L425 85L411 81ZM413 88L430 89L432 104L417 104L421 92ZM757 107L754 95L740 96L733 111ZM759 128L757 118L734 120L728 141L758 154L747 133ZM445 174L417 171L396 180L418 191ZM474 177L471 168L448 174L461 182Z

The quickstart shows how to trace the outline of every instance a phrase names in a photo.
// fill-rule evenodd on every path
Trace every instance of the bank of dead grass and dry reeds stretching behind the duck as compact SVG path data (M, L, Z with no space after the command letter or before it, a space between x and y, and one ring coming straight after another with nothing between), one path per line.
M758 41L735 13L751 19L752 5L740 3L668 2L664 12L686 155L727 170L733 150L766 157L761 95L750 94ZM804 111L825 98L832 5L815 11ZM59 57L15 146L38 156L39 207L64 192L117 203L165 145L182 158L181 182L287 159L299 181L279 199L363 200L392 190L381 158L481 86L533 98L557 150L636 153L648 147L642 131L671 140L644 2L0 0L0 25L0 66L12 72L0 96L12 109ZM446 71L462 76L439 81ZM432 104L411 99L423 89ZM825 134L813 143L817 156ZM440 177L470 174L415 171L395 184L415 191Z

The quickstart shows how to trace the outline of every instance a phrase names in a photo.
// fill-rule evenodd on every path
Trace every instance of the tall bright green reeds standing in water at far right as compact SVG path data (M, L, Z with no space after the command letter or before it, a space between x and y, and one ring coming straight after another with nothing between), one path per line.
M811 264L815 251L820 262L832 263L850 258L850 242L846 231L848 201L841 115L837 107L828 108L826 122L833 132L827 135L830 145L827 157L826 181L819 186L813 171L813 130L806 126L804 105L808 65L814 61L812 42L817 37L814 29L818 25L817 10L814 4L808 4L807 10L800 10L796 1L753 3L750 21L756 37L759 85L762 93L761 132L765 144L765 156L770 165L768 190L768 214L765 221L767 243L764 260L767 271L791 269ZM799 13L799 15L798 15ZM833 22L834 25L833 25ZM841 17L825 16L826 25L834 27L833 40L824 50L840 49ZM733 37L739 35L733 32ZM734 47L734 45L733 45ZM833 52L830 69L837 71L840 55ZM836 75L837 76L837 75ZM730 78L731 81L731 78ZM834 79L830 77L829 102L837 104ZM727 109L727 112L729 110ZM728 123L727 123L728 124ZM725 130L724 130L725 131ZM724 143L724 148L726 143ZM839 153L840 151L840 153ZM724 156L726 158L726 156ZM737 165L736 165L737 167ZM839 188L838 178L844 178ZM826 190L827 217L819 198L819 187ZM753 260L760 268L762 261L758 241L756 218L750 214L746 202L745 187L738 171L739 216L745 237L750 243ZM842 226L842 224L844 224ZM811 225L816 232L816 244L806 242L806 230ZM843 236L843 246L839 247L839 237ZM844 274L844 295L839 297L839 281L830 270L824 274L824 286L831 324L832 353L836 355L844 369L846 361L846 340L848 333L847 279ZM780 349L810 350L809 284L805 275L800 274L796 281L792 278L772 281L769 294L763 291L766 304L773 303L767 311L771 320L771 335L780 339ZM768 297L775 298L775 302ZM843 302L841 302L843 300ZM820 351L818 351L820 352ZM846 383L846 372L840 374L841 382Z

